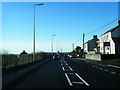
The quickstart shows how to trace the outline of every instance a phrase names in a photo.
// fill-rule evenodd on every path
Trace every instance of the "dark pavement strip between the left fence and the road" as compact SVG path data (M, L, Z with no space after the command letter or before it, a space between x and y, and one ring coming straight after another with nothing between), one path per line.
M2 74L2 87L9 86L10 83L15 82L16 80L20 79L21 77L24 77L33 71L35 71L37 68L42 66L43 64L51 61L50 59L46 59L37 63L34 63L32 65L29 65L25 68L18 69L16 71L8 72Z

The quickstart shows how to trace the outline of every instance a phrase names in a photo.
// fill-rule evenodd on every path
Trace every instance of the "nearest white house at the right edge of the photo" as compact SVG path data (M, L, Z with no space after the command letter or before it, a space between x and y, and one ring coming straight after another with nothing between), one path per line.
M120 54L120 20L118 26L100 36L101 54Z

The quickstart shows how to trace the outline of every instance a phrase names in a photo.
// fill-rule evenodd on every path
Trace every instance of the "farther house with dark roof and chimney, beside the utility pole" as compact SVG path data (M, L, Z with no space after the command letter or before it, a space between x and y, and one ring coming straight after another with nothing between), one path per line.
M97 38L97 35L93 35L93 39L88 40L84 44L84 52L85 53L95 52L97 47L97 43L96 43L97 41L99 41L99 39Z

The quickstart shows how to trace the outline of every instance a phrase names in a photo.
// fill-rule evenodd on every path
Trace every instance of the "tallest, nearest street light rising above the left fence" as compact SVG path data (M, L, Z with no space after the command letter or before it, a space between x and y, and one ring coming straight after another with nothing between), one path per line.
M33 10L34 11L34 13L33 13L34 14L33 15L34 16L33 17L34 18L34 29L33 29L33 61L35 61L35 6L36 5L38 5L38 6L39 5L43 5L43 3L41 3L41 4L34 4L34 7L33 7L34 8L34 10Z

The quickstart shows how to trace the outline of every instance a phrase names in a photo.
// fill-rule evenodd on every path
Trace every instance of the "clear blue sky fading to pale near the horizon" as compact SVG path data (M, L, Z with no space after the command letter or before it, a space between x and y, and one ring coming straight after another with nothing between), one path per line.
M82 34L89 33L118 18L117 2L43 2L36 6L36 51L71 51L82 44ZM22 50L33 51L33 5L37 2L2 3L3 49L19 54ZM114 22L103 29L86 35L100 35L117 26Z

